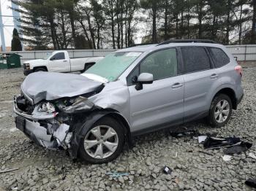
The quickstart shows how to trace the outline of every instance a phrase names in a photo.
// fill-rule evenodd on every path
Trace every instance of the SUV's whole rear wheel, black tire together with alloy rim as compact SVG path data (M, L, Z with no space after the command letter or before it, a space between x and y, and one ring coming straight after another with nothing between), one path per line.
M211 101L208 122L212 127L220 128L227 124L232 114L232 101L225 94L219 94Z

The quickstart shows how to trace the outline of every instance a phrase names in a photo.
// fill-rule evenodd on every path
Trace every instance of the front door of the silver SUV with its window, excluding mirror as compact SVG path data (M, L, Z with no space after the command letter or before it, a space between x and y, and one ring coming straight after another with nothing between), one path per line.
M146 133L146 128L157 130L183 121L184 78L179 75L177 58L175 48L153 52L127 77L133 133ZM154 82L136 90L136 78L141 73L153 74Z

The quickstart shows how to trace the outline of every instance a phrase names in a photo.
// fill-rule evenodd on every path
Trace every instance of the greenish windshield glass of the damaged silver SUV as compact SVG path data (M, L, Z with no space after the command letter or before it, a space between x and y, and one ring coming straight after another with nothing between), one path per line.
M86 70L86 74L97 74L100 77L115 81L141 55L141 52L114 52L107 55Z

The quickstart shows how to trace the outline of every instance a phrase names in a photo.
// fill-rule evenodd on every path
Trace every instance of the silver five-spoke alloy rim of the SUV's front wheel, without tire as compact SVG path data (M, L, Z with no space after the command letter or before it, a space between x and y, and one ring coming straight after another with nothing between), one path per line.
M91 157L102 159L113 155L118 147L116 130L107 125L99 125L89 130L84 139L84 148Z

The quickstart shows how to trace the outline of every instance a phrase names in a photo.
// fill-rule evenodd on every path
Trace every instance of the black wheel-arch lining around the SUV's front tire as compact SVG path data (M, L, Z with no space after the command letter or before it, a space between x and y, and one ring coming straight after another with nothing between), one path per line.
M72 158L77 158L78 157L78 149L80 147L80 143L83 139L84 136L86 136L87 131L89 130L89 128L91 128L92 125L94 125L95 122L97 122L99 119L101 119L102 117L105 117L107 115L113 115L113 114L118 114L121 116L121 114L119 114L118 112L113 112L113 111L96 111L93 112L91 114L89 114L85 120L76 123L73 126L73 131L72 131L72 140L71 140L71 147L69 148L69 155L71 155ZM131 139L131 133L130 130L127 129L124 126L124 130L125 130L125 137L126 137L126 141L129 144L129 146L132 146L132 139Z

